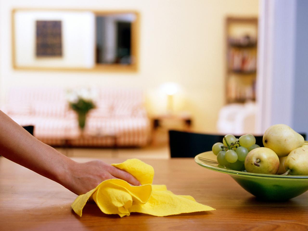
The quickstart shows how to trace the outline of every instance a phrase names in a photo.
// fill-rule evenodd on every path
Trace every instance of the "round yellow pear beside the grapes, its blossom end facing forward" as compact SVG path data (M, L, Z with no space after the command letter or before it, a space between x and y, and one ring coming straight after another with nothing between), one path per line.
M279 158L270 148L254 148L245 158L247 172L276 174L279 168Z

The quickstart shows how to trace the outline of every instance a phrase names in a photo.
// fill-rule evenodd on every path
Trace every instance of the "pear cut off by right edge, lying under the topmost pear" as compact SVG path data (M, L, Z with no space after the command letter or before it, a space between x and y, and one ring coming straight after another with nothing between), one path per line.
M308 175L308 147L292 150L285 161L285 169L290 175Z

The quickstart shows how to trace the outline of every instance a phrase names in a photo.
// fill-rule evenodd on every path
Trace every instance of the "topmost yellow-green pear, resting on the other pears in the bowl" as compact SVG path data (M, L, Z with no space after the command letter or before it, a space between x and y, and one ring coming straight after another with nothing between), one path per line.
M304 137L286 124L270 126L263 135L264 147L272 149L279 157L287 156L304 142Z

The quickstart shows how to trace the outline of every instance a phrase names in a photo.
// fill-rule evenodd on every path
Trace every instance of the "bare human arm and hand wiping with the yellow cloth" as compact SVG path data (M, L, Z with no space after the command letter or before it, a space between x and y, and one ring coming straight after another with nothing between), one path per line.
M140 185L131 174L100 160L78 163L30 135L0 111L0 154L13 162L62 184L78 195L103 180L120 178Z

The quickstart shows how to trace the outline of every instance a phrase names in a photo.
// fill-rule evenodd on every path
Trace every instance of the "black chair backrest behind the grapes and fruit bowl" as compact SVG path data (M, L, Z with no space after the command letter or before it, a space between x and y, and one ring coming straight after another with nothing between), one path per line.
M211 151L213 144L222 142L223 135L169 131L170 155L173 157L195 157L201 152ZM239 137L239 136L235 136ZM263 146L263 136L255 136L256 144Z

